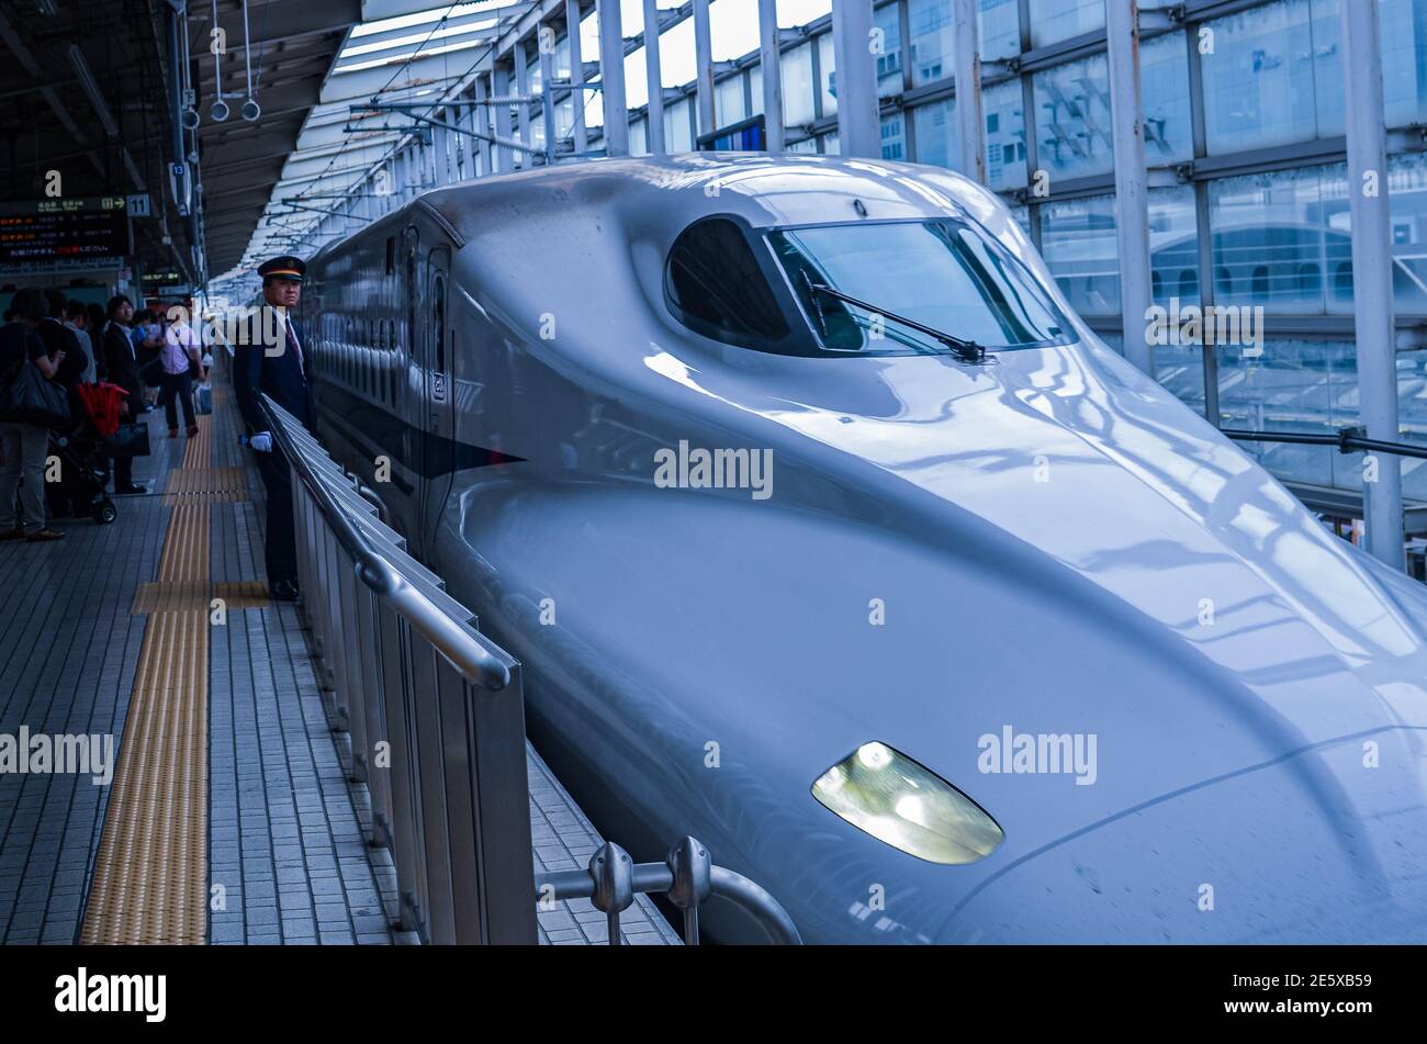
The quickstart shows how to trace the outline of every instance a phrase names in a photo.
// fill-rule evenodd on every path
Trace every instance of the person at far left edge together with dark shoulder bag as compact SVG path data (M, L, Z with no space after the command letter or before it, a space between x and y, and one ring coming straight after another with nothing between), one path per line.
M10 302L13 322L0 328L0 541L59 541L64 533L44 523L44 456L50 448L50 429L43 421L46 409L43 384L53 381L64 352L51 359L44 342L34 332L46 317L49 304L39 290L27 288ZM63 389L60 396L63 396ZM67 401L66 401L67 402ZM57 406L50 404L53 412ZM23 485L21 485L23 479ZM20 512L16 511L20 495Z

